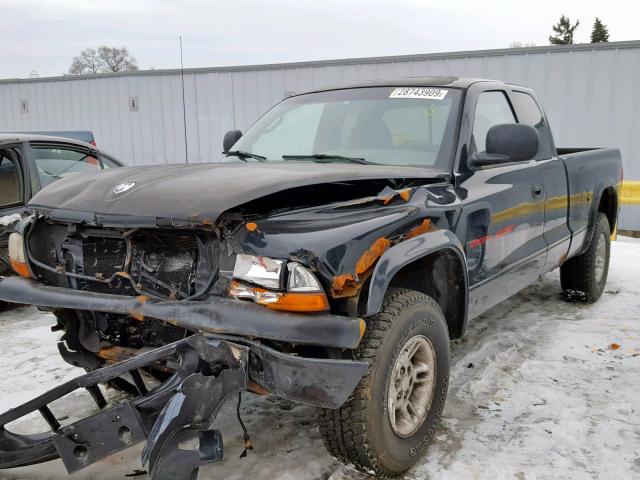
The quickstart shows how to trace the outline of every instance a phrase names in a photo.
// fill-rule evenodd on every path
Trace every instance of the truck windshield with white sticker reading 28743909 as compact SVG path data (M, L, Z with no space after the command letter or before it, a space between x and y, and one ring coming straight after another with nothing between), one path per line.
M460 95L440 87L375 87L290 97L260 118L226 159L446 170Z

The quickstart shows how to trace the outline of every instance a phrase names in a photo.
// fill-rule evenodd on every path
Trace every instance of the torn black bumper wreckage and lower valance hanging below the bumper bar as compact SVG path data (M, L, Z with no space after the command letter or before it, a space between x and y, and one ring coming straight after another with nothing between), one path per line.
M99 384L176 358L165 382L107 407ZM212 423L224 400L249 380L273 393L311 405L337 408L352 393L367 364L285 355L255 342L197 334L77 377L0 415L0 469L62 459L69 473L146 440L142 453L152 480L193 480L201 465L222 460L223 443ZM101 411L60 425L49 404L87 389ZM21 435L10 422L39 411L51 431ZM191 448L188 448L188 447Z

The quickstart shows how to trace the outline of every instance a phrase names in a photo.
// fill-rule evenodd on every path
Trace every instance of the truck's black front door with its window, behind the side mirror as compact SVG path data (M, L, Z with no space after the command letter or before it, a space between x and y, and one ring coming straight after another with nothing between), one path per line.
M478 94L470 155L485 150L488 130L516 123L505 91ZM479 315L534 282L546 256L542 174L535 160L471 169L466 199L470 316Z

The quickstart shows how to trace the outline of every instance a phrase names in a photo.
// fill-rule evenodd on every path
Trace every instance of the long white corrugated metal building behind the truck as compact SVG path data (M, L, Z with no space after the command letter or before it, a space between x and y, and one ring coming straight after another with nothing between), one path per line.
M244 130L292 92L375 78L486 77L532 87L563 147L616 146L640 180L640 41L396 57L0 80L0 131L92 130L129 165L220 159ZM640 229L640 207L621 224Z

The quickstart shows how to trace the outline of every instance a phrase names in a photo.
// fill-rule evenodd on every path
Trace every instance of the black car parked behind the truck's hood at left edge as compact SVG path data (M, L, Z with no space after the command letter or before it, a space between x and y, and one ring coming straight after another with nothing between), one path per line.
M30 133L0 134L0 275L11 273L9 232L27 213L33 195L61 178L122 166L89 143Z

